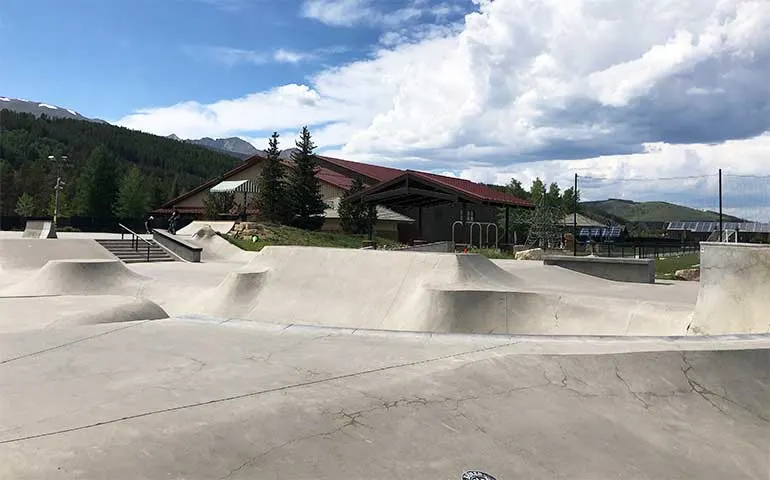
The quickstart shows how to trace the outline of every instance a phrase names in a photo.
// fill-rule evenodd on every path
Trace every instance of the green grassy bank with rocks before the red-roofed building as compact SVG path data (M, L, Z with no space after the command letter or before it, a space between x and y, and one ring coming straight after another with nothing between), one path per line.
M296 245L303 247L361 248L367 235L352 235L341 232L311 232L283 225L257 226L257 241L222 235L233 245L243 250L260 251L268 245ZM397 242L385 238L375 238L379 245L396 246Z

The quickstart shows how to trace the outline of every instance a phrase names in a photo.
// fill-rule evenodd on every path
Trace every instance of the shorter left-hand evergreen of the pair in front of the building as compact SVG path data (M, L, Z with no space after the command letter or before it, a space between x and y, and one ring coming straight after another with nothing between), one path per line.
M288 199L284 178L284 167L278 150L278 132L273 132L268 142L267 160L259 178L257 206L262 215L273 223L288 220Z

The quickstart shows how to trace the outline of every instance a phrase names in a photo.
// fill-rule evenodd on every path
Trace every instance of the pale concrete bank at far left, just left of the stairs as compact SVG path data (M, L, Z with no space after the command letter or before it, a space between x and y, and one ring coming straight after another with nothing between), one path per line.
M111 259L116 257L91 239L0 239L0 267L3 270L37 269L49 260Z

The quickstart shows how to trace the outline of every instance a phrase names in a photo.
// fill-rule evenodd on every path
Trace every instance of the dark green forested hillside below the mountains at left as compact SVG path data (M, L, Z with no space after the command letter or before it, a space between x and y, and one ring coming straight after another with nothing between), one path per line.
M50 215L57 165L62 216L131 218L231 169L208 148L109 124L0 111L0 215Z

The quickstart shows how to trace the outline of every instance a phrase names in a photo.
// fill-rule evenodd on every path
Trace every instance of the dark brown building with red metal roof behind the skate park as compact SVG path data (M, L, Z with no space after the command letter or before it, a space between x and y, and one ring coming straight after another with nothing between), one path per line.
M350 189L354 179L358 179L367 188L355 196L356 201L371 203L378 208L391 209L397 213L388 218L416 219L414 222L393 220L390 223L383 219L376 225L378 235L398 238L404 242L418 239L453 239L459 243L485 243L481 225L483 224L488 232L490 228L496 231L500 209L506 211L507 218L507 211L511 208L533 208L528 201L500 189L461 178L400 170L324 155L316 155L316 160L321 193L328 202L333 203L342 197ZM264 157L255 155L222 176L166 202L155 213L165 214L176 208L182 215L200 217L204 210L203 201L209 190L224 181L256 181L261 175L264 161ZM289 168L292 166L289 160L284 160L283 163ZM246 213L258 212L246 209ZM331 225L332 222L329 223ZM462 232L459 233L462 238L458 238L456 223L462 224ZM472 223L479 225L477 241L472 238L473 232L468 230ZM338 222L335 225L338 225ZM486 243L497 243L500 237L509 238L507 228L504 235L495 236L494 242L490 235L492 234L487 233Z

